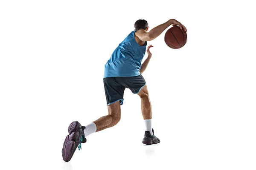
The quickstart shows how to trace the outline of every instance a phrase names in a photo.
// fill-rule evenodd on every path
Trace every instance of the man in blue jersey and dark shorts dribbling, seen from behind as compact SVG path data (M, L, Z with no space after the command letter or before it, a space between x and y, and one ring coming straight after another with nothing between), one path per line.
M108 105L108 115L99 118L87 126L81 126L78 121L72 122L68 127L67 135L63 148L62 157L64 161L70 161L76 147L81 148L81 143L86 142L86 136L91 133L104 130L116 125L120 120L121 105L123 104L123 95L125 88L129 88L132 93L140 96L141 110L145 121L145 136L143 144L151 145L160 142L154 136L154 130L151 125L151 103L148 96L148 89L145 79L141 75L145 71L151 58L150 48L148 46L148 58L141 65L145 55L147 41L154 40L171 25L178 25L180 29L186 28L177 20L171 19L151 31L148 31L148 22L146 20L137 20L134 24L135 30L123 40L115 49L111 58L105 64L104 88Z

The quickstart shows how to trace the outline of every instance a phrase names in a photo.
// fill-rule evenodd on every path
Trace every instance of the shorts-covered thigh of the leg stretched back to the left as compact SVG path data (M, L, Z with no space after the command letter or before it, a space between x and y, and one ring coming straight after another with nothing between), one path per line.
M120 102L120 105L122 105L125 87L119 84L115 77L104 78L103 82L107 105L111 105L118 101Z

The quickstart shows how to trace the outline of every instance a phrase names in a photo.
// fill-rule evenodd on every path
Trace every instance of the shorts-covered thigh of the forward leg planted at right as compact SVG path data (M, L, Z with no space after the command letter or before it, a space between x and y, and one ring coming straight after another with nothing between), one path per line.
M126 88L129 88L133 94L137 94L146 85L144 77L140 74L134 77L118 77L117 81Z

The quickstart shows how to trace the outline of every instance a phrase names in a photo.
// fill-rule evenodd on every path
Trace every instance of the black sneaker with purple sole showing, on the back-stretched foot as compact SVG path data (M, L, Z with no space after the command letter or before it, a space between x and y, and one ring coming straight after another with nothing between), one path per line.
M62 148L62 158L64 161L68 162L72 158L73 154L76 151L76 147L81 149L81 143L86 142L84 138L84 126L77 121L70 123L68 127L68 133Z

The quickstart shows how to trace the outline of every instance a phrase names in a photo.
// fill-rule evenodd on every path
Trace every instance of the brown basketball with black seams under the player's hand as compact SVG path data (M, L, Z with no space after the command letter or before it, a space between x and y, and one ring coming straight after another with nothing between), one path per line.
M178 49L186 44L187 34L184 29L180 29L178 26L173 26L166 31L164 41L170 48Z

